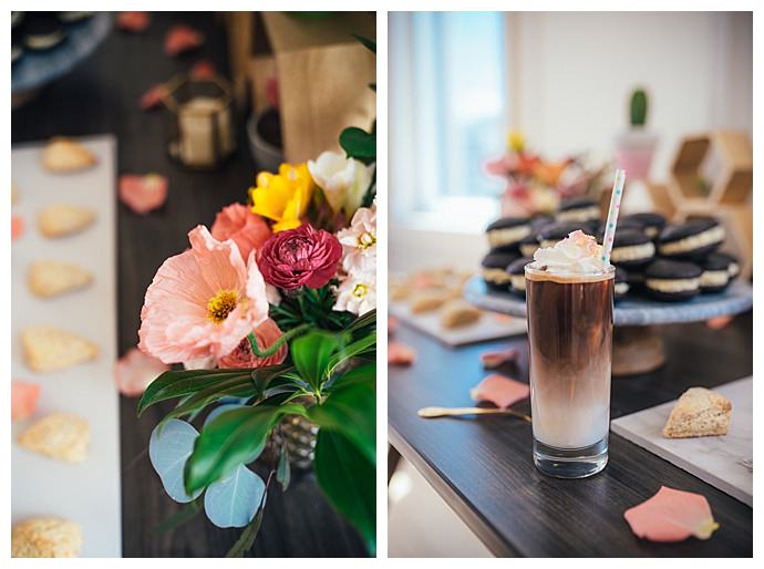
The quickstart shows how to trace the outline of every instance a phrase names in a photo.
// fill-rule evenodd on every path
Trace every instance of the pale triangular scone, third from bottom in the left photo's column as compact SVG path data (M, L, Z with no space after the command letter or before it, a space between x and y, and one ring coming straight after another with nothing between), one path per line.
M64 370L95 359L99 346L54 327L34 325L21 333L27 365L34 372Z

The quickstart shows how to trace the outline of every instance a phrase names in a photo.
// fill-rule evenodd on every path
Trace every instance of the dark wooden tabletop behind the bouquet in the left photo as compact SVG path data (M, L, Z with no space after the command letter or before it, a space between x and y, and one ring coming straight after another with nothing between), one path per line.
M163 41L169 25L185 22L202 30L204 48L171 59ZM42 141L53 135L113 133L117 137L117 167L123 173L158 172L169 178L169 198L147 216L123 205L117 214L118 351L137 343L143 296L156 269L188 247L186 234L197 224L211 225L215 213L233 201L245 201L256 165L247 147L244 118L238 121L239 149L217 172L193 173L166 153L167 123L162 112L145 113L138 99L149 86L188 70L202 59L226 72L225 29L213 13L153 14L142 35L114 30L96 53L70 75L45 89L11 114L13 143ZM137 400L121 401L122 535L125 557L216 557L225 555L240 530L218 529L204 515L174 531L154 527L177 511L148 463L152 428L163 415L149 410L140 421ZM364 556L355 531L324 500L312 474L298 475L286 494L269 493L262 527L251 556Z

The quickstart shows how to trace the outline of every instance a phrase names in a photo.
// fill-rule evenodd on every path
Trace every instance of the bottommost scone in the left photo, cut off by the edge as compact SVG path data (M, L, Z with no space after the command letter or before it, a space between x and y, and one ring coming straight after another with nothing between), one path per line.
M29 518L11 530L11 557L80 557L82 529L61 518Z

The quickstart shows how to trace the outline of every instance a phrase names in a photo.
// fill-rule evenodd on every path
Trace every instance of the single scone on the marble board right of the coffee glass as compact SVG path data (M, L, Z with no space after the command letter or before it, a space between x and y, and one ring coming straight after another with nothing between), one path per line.
M667 438L726 435L732 403L705 387L690 387L671 410L663 427Z

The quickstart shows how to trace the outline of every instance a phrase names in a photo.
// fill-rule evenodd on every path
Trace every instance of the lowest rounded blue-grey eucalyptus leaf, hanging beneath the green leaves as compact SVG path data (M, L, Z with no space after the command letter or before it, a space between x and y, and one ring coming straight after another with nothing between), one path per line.
M244 465L230 476L215 482L204 495L204 510L219 528L242 528L260 507L266 483Z

